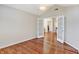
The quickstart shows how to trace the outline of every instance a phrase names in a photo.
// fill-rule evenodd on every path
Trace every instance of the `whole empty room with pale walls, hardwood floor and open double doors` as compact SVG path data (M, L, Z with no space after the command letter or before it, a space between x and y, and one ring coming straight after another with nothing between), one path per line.
M79 54L78 4L0 4L0 54Z

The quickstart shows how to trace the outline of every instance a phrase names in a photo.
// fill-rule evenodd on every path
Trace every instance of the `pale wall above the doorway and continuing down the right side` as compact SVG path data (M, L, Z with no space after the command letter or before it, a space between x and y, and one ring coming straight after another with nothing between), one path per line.
M58 7L59 11L51 9L41 15L41 18L64 15L65 17L65 42L79 50L79 6Z

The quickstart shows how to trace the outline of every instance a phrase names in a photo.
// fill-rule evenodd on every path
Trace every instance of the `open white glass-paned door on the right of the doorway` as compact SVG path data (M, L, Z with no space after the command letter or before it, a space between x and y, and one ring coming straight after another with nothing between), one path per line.
M57 40L64 42L64 16L58 16Z

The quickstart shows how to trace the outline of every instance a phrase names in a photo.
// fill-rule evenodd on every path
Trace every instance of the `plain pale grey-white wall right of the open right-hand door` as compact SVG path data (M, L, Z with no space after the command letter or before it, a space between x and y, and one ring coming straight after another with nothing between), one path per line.
M79 50L79 6L65 8L65 41Z

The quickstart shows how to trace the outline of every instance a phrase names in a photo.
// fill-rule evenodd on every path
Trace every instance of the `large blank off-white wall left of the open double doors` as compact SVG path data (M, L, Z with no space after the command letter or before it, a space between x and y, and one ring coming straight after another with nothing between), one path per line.
M0 48L36 37L35 15L0 5Z

